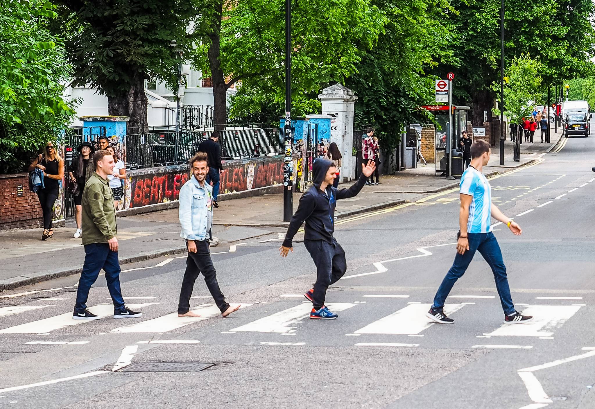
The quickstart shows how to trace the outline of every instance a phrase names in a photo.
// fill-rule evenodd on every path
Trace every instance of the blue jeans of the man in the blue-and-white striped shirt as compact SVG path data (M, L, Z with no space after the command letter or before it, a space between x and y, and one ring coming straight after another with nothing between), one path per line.
M448 297L450 290L452 290L455 282L461 278L471 263L475 251L479 251L483 258L491 267L494 273L494 281L496 281L496 289L500 295L500 303L505 314L512 314L515 312L515 306L512 303L511 289L508 287L508 278L506 277L506 266L502 260L502 251L498 241L492 232L489 233L468 233L469 236L469 250L464 254L456 253L455 262L442 280L440 288L434 297L435 310L440 310L444 307L444 301Z

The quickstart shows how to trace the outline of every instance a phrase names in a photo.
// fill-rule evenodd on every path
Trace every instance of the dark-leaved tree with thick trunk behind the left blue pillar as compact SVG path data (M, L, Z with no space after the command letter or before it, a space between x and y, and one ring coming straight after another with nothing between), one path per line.
M108 97L109 115L130 117L129 128L147 126L145 80L158 78L173 86L176 40L192 48L187 27L199 14L193 0L57 0L61 6L73 85L86 85ZM174 80L175 78L175 80ZM136 128L136 129L135 129Z

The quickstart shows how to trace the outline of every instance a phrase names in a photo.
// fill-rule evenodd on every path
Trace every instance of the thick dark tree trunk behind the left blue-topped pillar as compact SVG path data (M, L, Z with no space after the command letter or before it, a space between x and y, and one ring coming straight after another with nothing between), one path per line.
M127 124L128 134L145 133L148 130L147 96L145 78L137 75L127 93L108 96L108 114L130 117Z

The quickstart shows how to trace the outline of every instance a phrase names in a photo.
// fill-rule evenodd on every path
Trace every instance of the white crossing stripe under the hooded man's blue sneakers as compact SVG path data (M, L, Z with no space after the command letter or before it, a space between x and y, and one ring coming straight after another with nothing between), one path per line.
M352 303L330 303L326 304L332 312L345 311L358 304ZM253 331L253 332L275 332L283 334L297 329L297 323L309 316L312 304L299 304L286 310L274 313L268 317L262 317L246 325L230 329L230 331Z

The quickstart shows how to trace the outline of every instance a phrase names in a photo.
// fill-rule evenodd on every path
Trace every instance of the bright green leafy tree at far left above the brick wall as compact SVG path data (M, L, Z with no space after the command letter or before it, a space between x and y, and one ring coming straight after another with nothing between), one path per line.
M74 114L62 96L70 75L62 40L47 29L46 1L7 0L0 8L0 172L23 171ZM28 163L27 163L28 164Z

